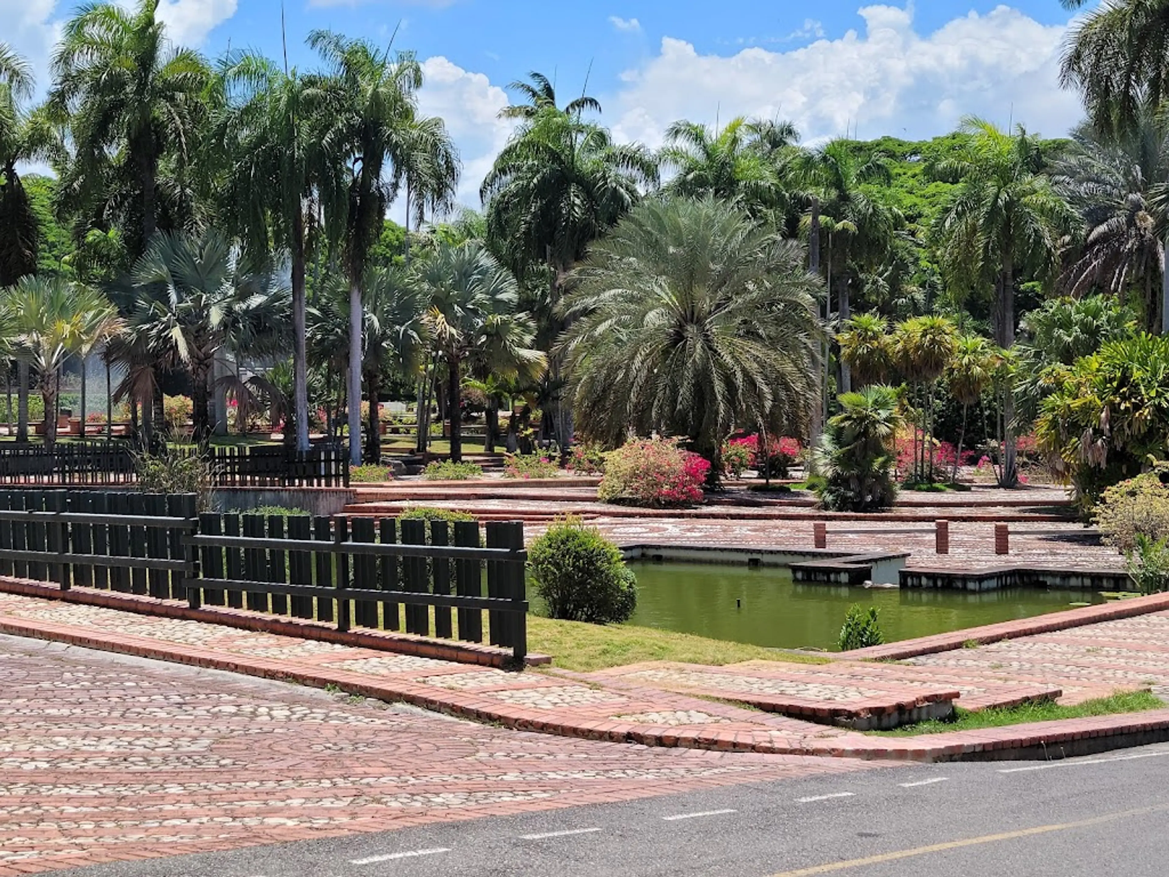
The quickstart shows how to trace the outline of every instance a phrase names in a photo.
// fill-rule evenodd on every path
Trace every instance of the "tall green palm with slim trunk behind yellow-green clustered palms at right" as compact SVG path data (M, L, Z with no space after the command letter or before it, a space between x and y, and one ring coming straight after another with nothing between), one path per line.
M942 271L952 286L992 289L991 323L995 343L1009 350L1015 343L1015 288L1019 275L1051 281L1059 267L1060 237L1074 216L1051 179L1039 139L1019 125L1015 132L967 118L966 149L934 168L940 179L957 184L938 215ZM1002 482L1018 481L1015 447L1015 401L1003 400L1007 421Z

